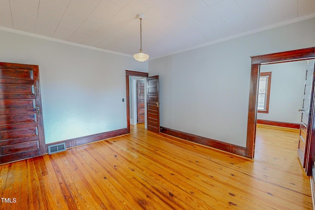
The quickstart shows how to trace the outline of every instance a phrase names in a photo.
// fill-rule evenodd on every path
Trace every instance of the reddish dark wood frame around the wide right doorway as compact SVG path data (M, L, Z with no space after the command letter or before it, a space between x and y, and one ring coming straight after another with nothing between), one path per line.
M279 63L290 62L297 60L308 60L315 58L315 47L285 51L280 53L273 53L261 56L253 56L252 68L251 68L251 81L250 81L250 97L249 97L249 111L248 111L248 126L247 126L247 142L246 142L246 157L254 157L254 144L256 137L256 120L257 120L257 96L258 96L258 80L260 73L260 65L266 63ZM312 95L313 97L313 95ZM315 103L312 109L315 108ZM315 126L313 126L315 119L312 119L312 135L307 145L308 161L306 164L306 173L309 175L312 171L312 165L314 163L315 152ZM314 135L313 135L314 134ZM312 154L312 155L310 155Z

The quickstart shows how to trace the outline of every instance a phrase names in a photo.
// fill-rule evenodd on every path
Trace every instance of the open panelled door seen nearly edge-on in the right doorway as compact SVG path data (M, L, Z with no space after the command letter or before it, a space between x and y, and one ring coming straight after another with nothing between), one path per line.
M313 107L313 92L314 92L314 60L309 62L306 68L305 85L304 85L304 98L303 107L299 111L302 112L300 123L300 136L298 145L298 157L300 162L305 168L306 165L306 151L307 145L311 136L312 124L312 107Z

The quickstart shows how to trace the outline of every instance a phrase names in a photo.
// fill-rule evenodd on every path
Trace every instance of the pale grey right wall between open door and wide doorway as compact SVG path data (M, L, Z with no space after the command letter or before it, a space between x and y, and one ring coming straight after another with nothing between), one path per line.
M251 56L315 46L315 18L149 61L161 126L246 147Z

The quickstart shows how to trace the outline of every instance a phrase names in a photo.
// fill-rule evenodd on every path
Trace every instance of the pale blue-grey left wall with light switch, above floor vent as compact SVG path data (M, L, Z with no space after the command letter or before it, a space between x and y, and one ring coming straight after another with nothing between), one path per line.
M148 72L148 62L1 30L0 61L39 66L46 144L126 128L125 70Z

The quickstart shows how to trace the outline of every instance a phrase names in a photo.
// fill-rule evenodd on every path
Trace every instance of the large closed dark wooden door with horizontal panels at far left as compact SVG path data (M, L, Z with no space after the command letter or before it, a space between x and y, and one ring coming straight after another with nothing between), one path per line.
M0 164L42 154L38 66L0 62Z

